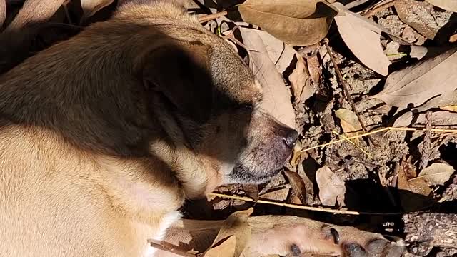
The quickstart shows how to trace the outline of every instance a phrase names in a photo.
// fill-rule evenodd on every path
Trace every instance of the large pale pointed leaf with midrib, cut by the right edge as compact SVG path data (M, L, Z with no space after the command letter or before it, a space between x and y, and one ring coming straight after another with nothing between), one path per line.
M418 62L387 78L383 91L371 96L391 106L420 106L436 96L451 94L457 88L457 49Z

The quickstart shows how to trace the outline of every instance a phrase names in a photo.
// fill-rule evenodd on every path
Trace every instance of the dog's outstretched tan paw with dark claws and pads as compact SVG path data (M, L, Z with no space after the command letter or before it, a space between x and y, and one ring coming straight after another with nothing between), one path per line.
M353 227L333 226L291 216L269 216L263 221L273 225L258 233L253 228L259 247L251 250L269 248L281 256L346 257L400 257L404 251L401 240L389 241L381 234Z

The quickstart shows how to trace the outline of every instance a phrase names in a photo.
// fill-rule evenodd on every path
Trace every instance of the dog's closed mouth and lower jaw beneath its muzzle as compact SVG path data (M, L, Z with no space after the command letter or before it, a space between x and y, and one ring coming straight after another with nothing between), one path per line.
M235 183L260 184L270 181L271 178L281 172L282 169L283 168L281 167L270 171L253 171L243 165L237 165L235 168L233 168L230 177L231 180Z

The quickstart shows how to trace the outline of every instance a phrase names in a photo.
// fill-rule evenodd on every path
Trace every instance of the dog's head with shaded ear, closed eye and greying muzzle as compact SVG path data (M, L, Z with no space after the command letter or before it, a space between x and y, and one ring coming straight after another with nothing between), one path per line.
M179 131L167 131L170 138L206 163L209 187L266 182L291 155L298 133L261 109L263 91L252 71L226 41L199 26L171 26L163 33L169 39L144 50L144 84L171 110L162 122L173 119Z

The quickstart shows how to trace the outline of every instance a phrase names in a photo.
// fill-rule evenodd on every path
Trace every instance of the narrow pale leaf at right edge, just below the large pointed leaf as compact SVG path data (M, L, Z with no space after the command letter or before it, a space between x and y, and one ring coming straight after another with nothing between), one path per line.
M450 111L434 111L431 114L433 125L439 126L452 126L457 124L457 114ZM398 117L393 123L395 127L426 124L426 114L414 115L412 111L408 111L402 116Z

